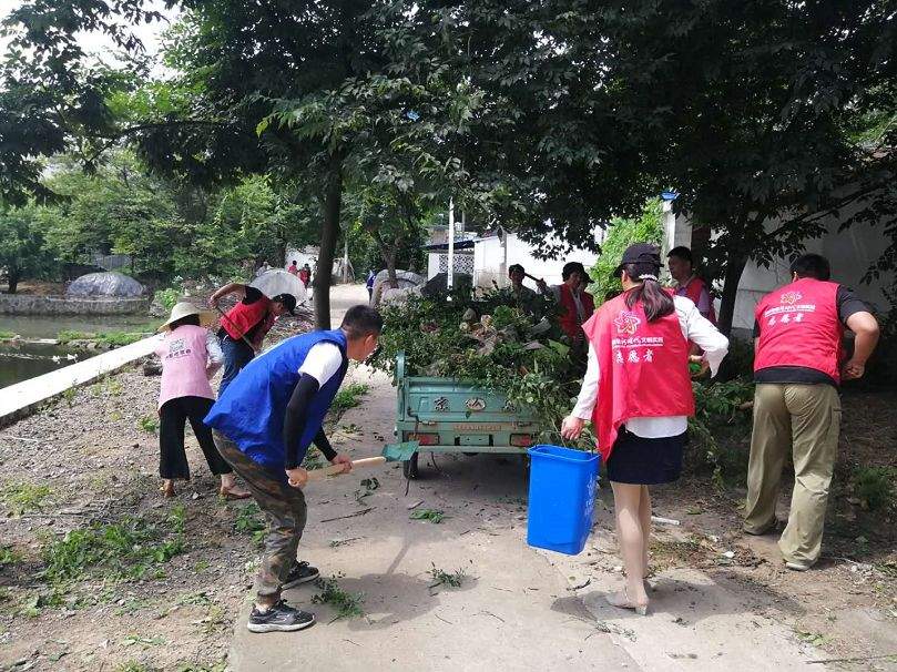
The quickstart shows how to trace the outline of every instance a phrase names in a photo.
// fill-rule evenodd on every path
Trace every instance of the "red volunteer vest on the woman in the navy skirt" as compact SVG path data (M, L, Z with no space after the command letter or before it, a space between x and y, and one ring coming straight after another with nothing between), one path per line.
M630 418L693 416L689 345L675 312L649 323L638 302L612 298L582 325L599 365L592 425L607 462L620 426Z

